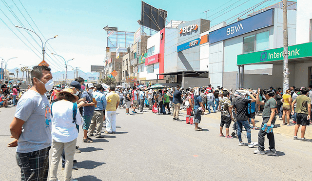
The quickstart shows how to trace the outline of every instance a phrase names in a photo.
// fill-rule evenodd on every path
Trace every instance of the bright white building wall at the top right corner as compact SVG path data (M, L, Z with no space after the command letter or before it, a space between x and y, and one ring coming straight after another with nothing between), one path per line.
M297 0L296 44L311 42L312 0Z

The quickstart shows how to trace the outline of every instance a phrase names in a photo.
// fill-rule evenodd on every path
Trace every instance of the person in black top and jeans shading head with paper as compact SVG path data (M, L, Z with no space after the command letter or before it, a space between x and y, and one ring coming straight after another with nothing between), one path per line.
M252 135L251 135L251 130L248 122L248 104L250 102L255 102L256 99L250 92L247 92L247 95L252 98L246 99L246 98L241 98L237 97L234 98L232 101L233 108L235 108L235 113L236 113L236 121L237 121L237 136L238 136L238 146L243 146L245 145L244 142L242 141L242 130L243 126L247 132L247 140L248 140L248 146L250 148L254 147L255 143L252 142Z

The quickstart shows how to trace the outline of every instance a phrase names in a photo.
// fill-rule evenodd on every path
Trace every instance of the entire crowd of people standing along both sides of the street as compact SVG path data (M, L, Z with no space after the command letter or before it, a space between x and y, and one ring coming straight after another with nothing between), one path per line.
M116 132L116 110L126 108L126 115L137 114L136 109L144 111L144 107L157 115L172 115L173 121L182 121L179 117L181 108L186 109L186 124L195 126L195 131L202 131L199 127L205 109L208 114L221 112L220 137L233 139L230 135L231 123L237 129L238 145L246 145L242 140L243 127L246 130L247 146L258 145L255 154L276 155L273 127L276 116L283 120L282 125L294 126L294 140L309 141L305 135L306 126L310 125L312 86L300 89L291 87L285 90L273 87L269 89L228 90L218 87L214 90L211 85L203 87L188 87L186 90L179 85L176 87L151 87L140 85L123 88L115 85L104 87L102 84L84 84L82 78L76 78L68 86L57 85L55 89L51 69L46 66L35 66L31 71L32 86L19 95L18 85L4 82L1 85L3 96L2 105L6 106L7 95L17 102L16 113L10 124L11 138L14 141L9 147L17 146L16 158L21 168L21 180L58 181L57 171L60 160L64 169L65 181L77 181L72 177L75 153L80 153L77 145L79 126L82 127L82 142L92 143L101 139L102 126L105 121L106 134ZM11 89L8 87L12 87ZM47 91L52 91L50 101L46 97ZM19 96L18 96L19 95ZM16 96L16 97L14 97ZM310 96L310 97L309 97ZM19 99L19 100L18 100ZM18 101L17 101L18 100ZM5 103L4 103L5 102ZM14 105L14 104L13 104ZM132 109L132 113L130 110ZM282 114L281 114L282 112ZM255 115L262 113L260 127L255 125ZM292 118L292 122L289 120ZM225 125L225 135L223 127ZM301 126L301 138L297 132ZM259 130L258 141L251 139L251 128ZM40 137L34 134L40 133ZM269 151L265 152L264 139L267 135ZM49 171L49 150L52 148L52 159Z

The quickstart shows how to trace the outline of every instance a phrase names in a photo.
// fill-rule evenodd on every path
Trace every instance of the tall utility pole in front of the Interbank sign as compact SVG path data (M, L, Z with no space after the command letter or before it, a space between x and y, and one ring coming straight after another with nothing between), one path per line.
M289 69L288 69L288 32L287 32L287 0L283 0L283 25L284 25L284 71L283 71L283 89L284 94L289 88Z

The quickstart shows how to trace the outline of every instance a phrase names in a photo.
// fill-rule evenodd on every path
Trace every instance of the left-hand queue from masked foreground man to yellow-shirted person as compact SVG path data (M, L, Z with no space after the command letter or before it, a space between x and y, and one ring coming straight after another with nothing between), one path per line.
M116 110L119 95L115 85L105 92L101 84L83 85L76 78L63 89L57 85L50 101L45 93L53 89L51 69L34 66L31 71L32 86L20 97L16 113L10 124L11 138L8 147L16 147L16 159L21 170L22 181L58 181L60 160L65 181L77 181L72 177L75 153L80 153L77 144L79 127L82 127L82 142L92 143L95 136L101 139L105 121L105 133L116 131ZM105 116L104 116L105 115ZM35 132L40 133L34 134ZM49 150L52 159L49 173Z

